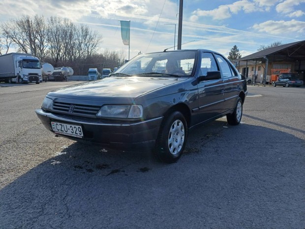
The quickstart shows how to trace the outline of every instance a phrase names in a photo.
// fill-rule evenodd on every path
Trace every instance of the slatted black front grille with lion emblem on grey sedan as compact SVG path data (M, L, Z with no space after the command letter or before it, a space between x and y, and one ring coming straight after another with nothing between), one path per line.
M100 108L100 106L94 105L71 104L66 102L53 101L53 110L64 114L95 117Z

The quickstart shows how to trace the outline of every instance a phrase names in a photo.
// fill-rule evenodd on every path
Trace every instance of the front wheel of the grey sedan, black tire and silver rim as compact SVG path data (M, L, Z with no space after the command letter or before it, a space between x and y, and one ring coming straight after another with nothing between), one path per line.
M187 124L183 114L175 111L165 118L156 141L154 154L165 163L174 163L181 157L187 138Z

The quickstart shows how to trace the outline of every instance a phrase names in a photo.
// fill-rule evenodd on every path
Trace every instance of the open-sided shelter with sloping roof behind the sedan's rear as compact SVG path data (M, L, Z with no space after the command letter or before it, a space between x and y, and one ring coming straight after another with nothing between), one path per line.
M271 68L277 69L280 67L276 66L280 65L290 65L291 71L299 73L300 79L304 81L305 40L275 46L235 60L236 67L239 71L242 67L242 74L246 77L248 77L248 65L255 65L253 75L257 76L256 66L258 64L264 68L264 86L266 85L267 75L271 75ZM253 80L253 82L255 82L255 80Z

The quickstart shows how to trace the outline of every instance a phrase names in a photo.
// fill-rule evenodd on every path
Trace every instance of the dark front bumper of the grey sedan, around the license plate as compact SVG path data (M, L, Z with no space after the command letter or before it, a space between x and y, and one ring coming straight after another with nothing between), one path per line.
M152 150L158 136L163 117L137 122L109 122L101 119L89 119L55 114L42 109L35 110L42 124L54 132L51 122L82 126L84 137L78 138L58 134L76 141L92 142L107 148L120 150Z

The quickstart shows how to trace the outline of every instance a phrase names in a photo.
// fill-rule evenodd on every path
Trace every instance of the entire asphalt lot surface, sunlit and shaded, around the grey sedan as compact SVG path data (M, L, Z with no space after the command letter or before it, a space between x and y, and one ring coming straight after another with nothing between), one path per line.
M34 109L75 83L0 84L0 229L305 228L305 88L248 86L241 125L162 164L45 130Z

